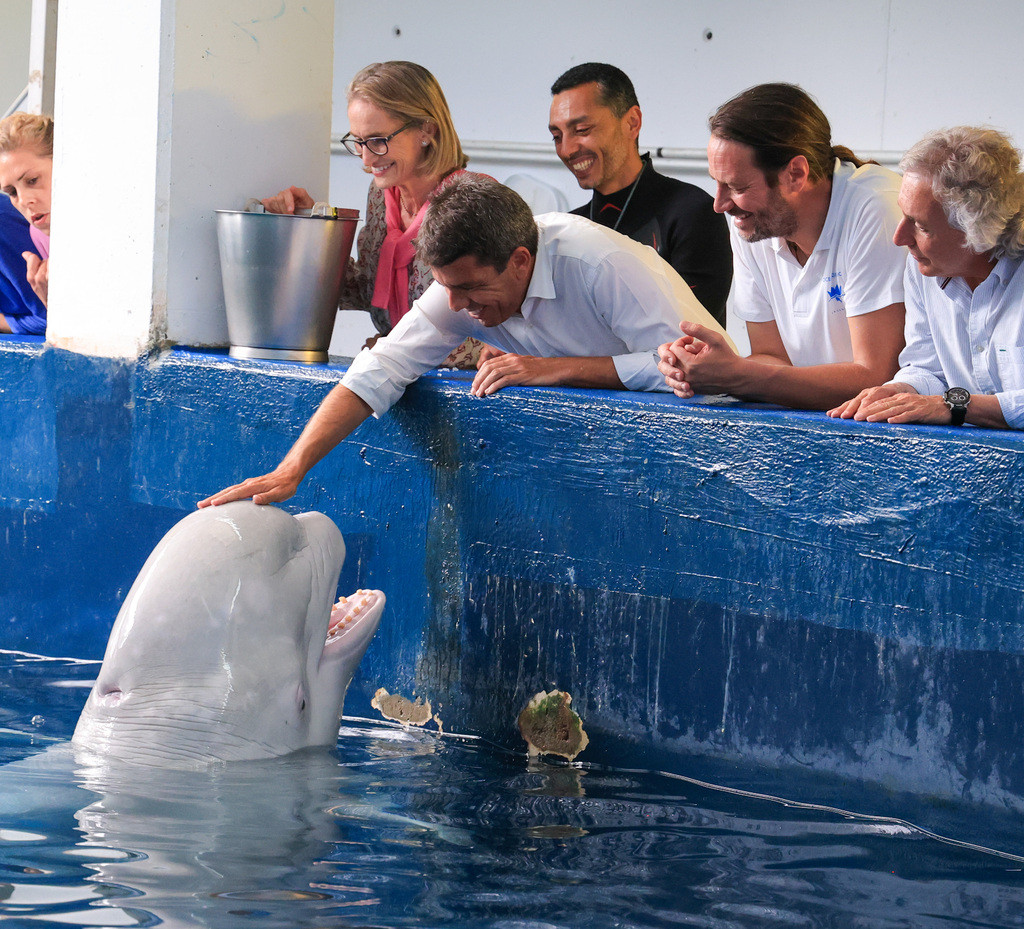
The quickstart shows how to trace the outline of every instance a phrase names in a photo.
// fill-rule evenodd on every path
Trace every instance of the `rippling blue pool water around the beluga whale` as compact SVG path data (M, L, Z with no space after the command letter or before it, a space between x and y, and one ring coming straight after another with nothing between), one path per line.
M83 768L67 740L97 669L0 653L5 926L1024 925L1012 855L383 722L205 772ZM1006 850L1019 824L992 819Z

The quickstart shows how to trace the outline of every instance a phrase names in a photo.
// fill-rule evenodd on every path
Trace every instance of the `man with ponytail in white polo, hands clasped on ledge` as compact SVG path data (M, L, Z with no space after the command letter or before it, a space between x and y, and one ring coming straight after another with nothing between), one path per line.
M892 243L899 177L831 143L820 108L792 84L761 84L711 119L715 209L732 226L729 312L751 354L684 323L660 348L676 394L826 410L896 371L905 252Z

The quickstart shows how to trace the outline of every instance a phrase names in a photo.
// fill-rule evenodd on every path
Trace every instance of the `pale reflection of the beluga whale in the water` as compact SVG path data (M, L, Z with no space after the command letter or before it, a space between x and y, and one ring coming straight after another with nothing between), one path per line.
M305 925L303 910L332 900L310 892L332 877L323 861L339 838L330 807L349 786L360 799L368 787L326 751L209 771L109 766L79 776L99 797L76 814L84 844L132 852L93 860L93 880L141 893L132 905L170 927L195 926L201 914L211 926L247 924L249 903L287 904L292 924Z

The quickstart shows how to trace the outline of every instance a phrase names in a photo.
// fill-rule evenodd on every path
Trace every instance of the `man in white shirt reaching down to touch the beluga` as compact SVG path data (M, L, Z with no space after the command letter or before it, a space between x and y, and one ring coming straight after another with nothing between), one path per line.
M371 413L473 336L502 350L470 392L514 384L663 390L657 346L680 320L728 339L653 249L579 216L534 217L490 178L454 179L417 239L434 283L391 333L364 350L278 467L207 498L287 500L308 470Z

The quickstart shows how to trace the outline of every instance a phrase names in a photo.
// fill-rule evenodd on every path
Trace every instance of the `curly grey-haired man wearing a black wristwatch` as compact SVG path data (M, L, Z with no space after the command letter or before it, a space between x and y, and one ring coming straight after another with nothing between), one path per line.
M829 411L891 423L1024 428L1024 175L992 129L933 132L903 157L906 348L887 384Z

